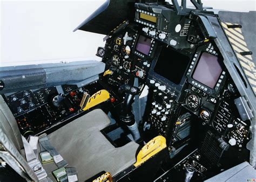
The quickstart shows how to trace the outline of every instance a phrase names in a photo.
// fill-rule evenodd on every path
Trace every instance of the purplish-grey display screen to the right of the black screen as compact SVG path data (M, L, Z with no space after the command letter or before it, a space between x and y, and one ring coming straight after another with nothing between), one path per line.
M192 78L210 88L214 88L221 72L222 68L219 64L219 58L212 54L203 52Z

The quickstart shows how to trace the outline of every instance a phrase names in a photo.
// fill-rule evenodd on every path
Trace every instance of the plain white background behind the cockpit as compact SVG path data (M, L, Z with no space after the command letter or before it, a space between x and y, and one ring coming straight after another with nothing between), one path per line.
M255 0L202 2L214 9L256 10ZM103 3L104 0L1 1L0 66L99 60L95 53L98 46L104 46L104 36L72 31Z

